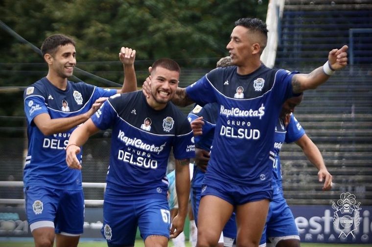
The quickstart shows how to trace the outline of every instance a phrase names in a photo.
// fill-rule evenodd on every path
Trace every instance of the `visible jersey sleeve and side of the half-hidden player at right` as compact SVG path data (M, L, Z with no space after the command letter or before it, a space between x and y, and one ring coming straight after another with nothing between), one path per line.
M281 165L279 152L283 143L293 143L299 140L305 134L304 129L301 124L297 121L295 116L291 114L291 120L285 127L283 121L279 118L277 126L275 127L275 137L274 137L274 153L275 153L275 163L273 165L273 180L282 190L281 186Z

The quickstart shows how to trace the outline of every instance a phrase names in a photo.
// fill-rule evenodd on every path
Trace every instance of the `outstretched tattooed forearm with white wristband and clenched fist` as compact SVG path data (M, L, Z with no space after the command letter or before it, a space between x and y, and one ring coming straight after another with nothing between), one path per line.
M344 68L348 63L348 46L333 49L328 53L328 61L309 74L296 74L292 77L294 93L301 93L308 89L315 89L328 80L336 70Z

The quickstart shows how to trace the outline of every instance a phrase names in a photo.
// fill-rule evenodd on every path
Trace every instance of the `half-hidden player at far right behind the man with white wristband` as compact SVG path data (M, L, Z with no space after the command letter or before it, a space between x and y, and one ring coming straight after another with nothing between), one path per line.
M295 142L302 148L308 160L318 169L318 180L323 182L323 190L331 189L332 175L324 164L318 147L305 134L301 124L294 117L294 107L302 101L302 94L288 99L282 106L279 120L275 126L273 163L274 196L270 202L269 212L260 245L267 247L300 247L300 236L292 211L287 205L282 189L281 165L279 152L285 143ZM287 121L286 116L290 120ZM289 122L289 123L288 123Z

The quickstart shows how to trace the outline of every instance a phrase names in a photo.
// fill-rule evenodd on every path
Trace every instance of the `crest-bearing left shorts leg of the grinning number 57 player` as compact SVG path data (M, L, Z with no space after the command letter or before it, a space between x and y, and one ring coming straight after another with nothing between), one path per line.
M138 226L134 204L105 195L101 233L109 247L134 246Z

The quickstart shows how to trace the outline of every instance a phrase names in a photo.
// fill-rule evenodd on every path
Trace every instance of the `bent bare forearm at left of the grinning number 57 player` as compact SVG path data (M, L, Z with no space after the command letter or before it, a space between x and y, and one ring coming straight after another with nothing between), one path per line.
M81 169L80 161L76 155L80 153L80 146L84 145L88 138L97 133L98 130L92 119L89 119L72 131L69 144L66 146L66 162L70 168Z

